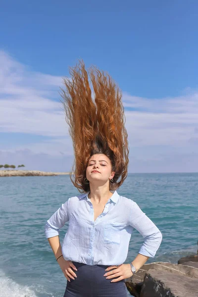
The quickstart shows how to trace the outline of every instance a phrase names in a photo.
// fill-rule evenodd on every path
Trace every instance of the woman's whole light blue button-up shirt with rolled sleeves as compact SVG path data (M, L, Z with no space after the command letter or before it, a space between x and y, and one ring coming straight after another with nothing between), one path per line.
M162 235L136 202L114 191L94 221L89 193L69 198L45 225L46 238L50 238L59 235L59 229L69 221L62 243L65 260L89 265L120 265L127 258L134 229L144 238L139 253L154 257Z

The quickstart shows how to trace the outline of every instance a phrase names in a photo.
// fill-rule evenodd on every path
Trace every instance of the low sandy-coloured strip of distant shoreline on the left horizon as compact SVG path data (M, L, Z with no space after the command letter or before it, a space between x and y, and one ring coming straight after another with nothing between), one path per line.
M0 170L0 177L8 176L54 176L68 175L70 172L47 172L39 170Z

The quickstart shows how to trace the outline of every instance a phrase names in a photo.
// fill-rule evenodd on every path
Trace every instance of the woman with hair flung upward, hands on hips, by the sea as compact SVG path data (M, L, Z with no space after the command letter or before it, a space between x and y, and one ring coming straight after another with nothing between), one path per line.
M96 67L88 73L83 61L70 74L61 96L75 154L70 178L82 194L70 197L49 218L46 237L68 280L64 297L126 297L124 280L154 257L162 235L136 202L116 191L129 162L118 86ZM67 221L61 247L59 229ZM144 243L132 263L123 264L134 228Z

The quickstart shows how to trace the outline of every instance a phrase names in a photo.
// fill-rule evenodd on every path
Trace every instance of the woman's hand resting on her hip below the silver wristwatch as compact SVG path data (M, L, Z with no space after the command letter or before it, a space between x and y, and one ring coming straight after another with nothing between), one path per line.
M111 270L113 269L113 270ZM109 271L111 270L111 271ZM117 277L116 279L112 280L111 283L113 282L118 282L121 280L124 280L128 277L131 277L133 275L133 272L131 271L131 265L130 264L121 264L121 265L112 265L109 266L105 269L107 271L104 276L106 279L112 279L114 277ZM109 272L108 272L109 271Z

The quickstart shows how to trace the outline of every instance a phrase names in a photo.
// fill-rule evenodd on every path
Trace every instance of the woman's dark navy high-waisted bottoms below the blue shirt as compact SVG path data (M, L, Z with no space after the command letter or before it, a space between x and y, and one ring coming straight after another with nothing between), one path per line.
M67 281L64 297L127 297L125 281L111 283L103 276L110 265L87 265L72 261L77 278Z

